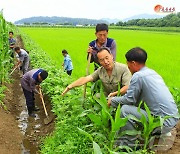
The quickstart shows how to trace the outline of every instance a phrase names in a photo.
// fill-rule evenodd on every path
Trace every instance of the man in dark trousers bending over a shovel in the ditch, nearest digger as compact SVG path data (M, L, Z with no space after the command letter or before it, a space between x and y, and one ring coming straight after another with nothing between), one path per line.
M36 88L40 88L40 83L48 77L48 72L43 69L33 69L23 75L21 78L21 87L26 99L28 114L35 117L33 111L39 109L35 107L34 93L40 94ZM41 96L42 97L42 96Z

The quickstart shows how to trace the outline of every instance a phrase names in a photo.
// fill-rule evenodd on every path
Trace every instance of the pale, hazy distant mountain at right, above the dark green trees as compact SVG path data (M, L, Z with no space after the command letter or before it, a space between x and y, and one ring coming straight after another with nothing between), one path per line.
M132 20L132 19L155 19L155 18L163 18L165 17L165 15L156 15L156 14L139 14L139 15L135 15L129 18L125 18L122 21L128 21L128 20Z

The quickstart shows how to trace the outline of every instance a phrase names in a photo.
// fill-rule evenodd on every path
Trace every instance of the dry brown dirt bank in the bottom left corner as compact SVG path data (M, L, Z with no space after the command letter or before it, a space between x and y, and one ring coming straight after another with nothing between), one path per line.
M12 85L8 86L6 94L8 95L4 99L4 104L9 107L10 102L13 100ZM0 108L0 154L20 153L22 139L23 135L18 128L18 122L11 113L11 109L8 108L5 111Z

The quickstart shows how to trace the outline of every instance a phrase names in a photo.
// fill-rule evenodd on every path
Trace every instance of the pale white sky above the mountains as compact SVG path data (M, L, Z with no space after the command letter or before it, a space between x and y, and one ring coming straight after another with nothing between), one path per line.
M122 20L144 13L164 14L154 11L157 4L180 12L180 0L0 0L0 10L10 22L32 16Z

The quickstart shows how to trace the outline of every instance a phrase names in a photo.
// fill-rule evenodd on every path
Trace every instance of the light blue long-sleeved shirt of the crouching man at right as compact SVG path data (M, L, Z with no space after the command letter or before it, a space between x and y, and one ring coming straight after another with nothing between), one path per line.
M147 67L133 74L127 93L122 97L112 98L111 105L117 107L120 103L138 106L140 101L144 101L155 116L178 115L173 96L162 77ZM168 123L167 125L171 125L172 121Z

